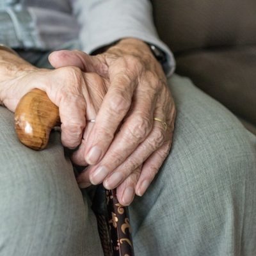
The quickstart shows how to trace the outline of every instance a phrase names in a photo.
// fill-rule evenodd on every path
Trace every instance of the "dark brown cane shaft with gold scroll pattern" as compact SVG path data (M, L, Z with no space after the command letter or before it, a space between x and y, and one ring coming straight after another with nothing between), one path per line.
M113 256L134 256L128 207L119 204L116 189L106 190Z

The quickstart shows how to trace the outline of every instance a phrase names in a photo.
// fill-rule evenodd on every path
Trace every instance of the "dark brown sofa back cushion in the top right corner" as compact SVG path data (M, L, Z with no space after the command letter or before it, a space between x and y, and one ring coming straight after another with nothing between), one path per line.
M255 0L152 0L157 31L173 52L256 44Z

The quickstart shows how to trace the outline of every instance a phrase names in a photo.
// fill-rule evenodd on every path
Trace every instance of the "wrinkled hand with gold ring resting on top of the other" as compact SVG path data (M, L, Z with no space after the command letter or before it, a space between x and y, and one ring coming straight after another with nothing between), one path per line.
M97 56L59 51L49 60L54 67L73 65L108 81L95 125L72 160L90 164L77 179L81 187L90 182L118 187L118 200L129 205L134 193L145 193L172 144L175 105L161 65L147 44L132 38Z

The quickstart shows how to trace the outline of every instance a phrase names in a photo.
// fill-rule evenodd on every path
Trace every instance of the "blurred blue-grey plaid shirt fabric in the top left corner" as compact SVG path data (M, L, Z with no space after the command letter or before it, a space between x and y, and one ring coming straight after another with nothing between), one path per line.
M15 49L49 50L77 38L75 18L71 13L63 14L58 6L63 1L44 2L44 8L40 8L39 1L0 0L1 44Z

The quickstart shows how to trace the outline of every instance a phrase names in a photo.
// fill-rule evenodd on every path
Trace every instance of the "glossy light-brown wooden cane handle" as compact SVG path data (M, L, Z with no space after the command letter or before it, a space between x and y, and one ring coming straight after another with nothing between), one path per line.
M58 123L58 107L39 89L24 95L15 111L15 130L19 140L35 150L47 146L51 129Z

